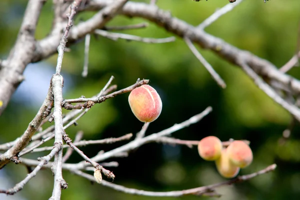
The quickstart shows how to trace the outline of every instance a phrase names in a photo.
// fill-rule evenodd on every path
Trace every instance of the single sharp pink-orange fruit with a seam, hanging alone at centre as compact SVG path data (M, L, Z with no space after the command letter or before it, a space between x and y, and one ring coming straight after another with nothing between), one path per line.
M129 94L128 101L133 114L142 122L154 121L162 109L160 96L147 84L134 88Z

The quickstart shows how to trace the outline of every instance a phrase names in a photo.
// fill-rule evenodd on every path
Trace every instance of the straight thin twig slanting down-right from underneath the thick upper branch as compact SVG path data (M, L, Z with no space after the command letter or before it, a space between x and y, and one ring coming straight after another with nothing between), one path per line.
M204 65L207 71L210 73L212 78L220 85L222 88L226 87L226 83L224 80L215 72L212 66L205 60L205 58L201 55L201 53L196 49L196 47L192 44L189 38L184 37L184 41L191 50L191 52L196 56L196 58Z

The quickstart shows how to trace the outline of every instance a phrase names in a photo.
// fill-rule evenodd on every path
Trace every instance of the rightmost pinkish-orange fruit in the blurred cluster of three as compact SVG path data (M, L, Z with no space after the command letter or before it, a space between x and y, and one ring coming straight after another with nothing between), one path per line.
M248 166L253 159L251 148L241 140L234 140L227 147L227 153L230 161L240 167Z

